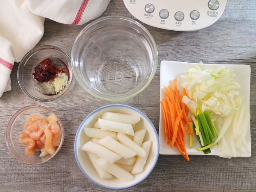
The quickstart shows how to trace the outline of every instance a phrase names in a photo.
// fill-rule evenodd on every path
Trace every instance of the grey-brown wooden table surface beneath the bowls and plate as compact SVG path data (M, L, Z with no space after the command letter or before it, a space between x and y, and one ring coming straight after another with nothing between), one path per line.
M254 0L228 0L222 17L205 29L176 32L143 24L156 41L159 65L154 79L139 95L119 102L145 113L158 131L160 61L186 61L210 64L248 64L251 67L250 126L252 155L225 159L191 155L159 155L151 174L125 191L221 191L256 190L256 5ZM122 15L135 19L122 0L112 0L101 17ZM135 19L136 20L136 19ZM140 21L139 21L140 22ZM140 22L141 23L141 22ZM44 36L38 45L55 45L69 55L73 42L87 24L72 26L46 19ZM12 91L0 98L0 190L1 191L111 191L91 182L80 171L74 140L82 120L93 110L115 102L97 99L75 80L72 90L52 102L36 102L26 96L17 82L16 63L11 74ZM65 140L58 154L41 165L27 165L12 156L6 146L6 125L20 108L43 105L55 111L65 128Z

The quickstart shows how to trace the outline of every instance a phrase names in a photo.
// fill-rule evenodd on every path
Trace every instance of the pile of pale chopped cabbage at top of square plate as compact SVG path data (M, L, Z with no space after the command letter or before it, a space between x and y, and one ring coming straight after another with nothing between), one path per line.
M241 86L234 79L236 74L226 67L201 70L201 66L202 62L195 64L181 76L186 79L181 85L188 91L190 99L201 111L212 111L220 116L234 113L241 104ZM195 104L187 99L186 104L195 108Z

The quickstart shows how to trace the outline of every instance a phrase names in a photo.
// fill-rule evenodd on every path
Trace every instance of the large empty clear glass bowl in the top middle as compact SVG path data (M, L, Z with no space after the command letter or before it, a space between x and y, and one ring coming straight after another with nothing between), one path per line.
M79 33L71 62L79 84L110 101L140 93L157 70L157 47L147 29L121 16L102 17Z

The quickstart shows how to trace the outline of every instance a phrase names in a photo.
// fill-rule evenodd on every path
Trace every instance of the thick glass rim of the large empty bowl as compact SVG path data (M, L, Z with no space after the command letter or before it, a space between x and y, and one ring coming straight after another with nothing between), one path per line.
M88 82L86 83L82 83L80 80L79 80L79 75L76 73L76 70L74 69L74 64L73 64L73 58L74 58L74 51L75 51L75 45L77 44L77 41L79 41L79 37L84 33L86 32L88 29L90 29L92 26L94 26L95 24L99 23L99 22L102 22L104 20L111 20L111 19L119 19L119 20L127 20L131 23L134 23L135 25L139 26L147 35L148 37L150 38L150 41L152 42L153 46L154 46L154 54L155 54L155 59L153 61L154 63L154 66L152 67L152 70L151 70L151 75L148 79L148 81L145 82L145 84L143 85L143 87L140 88L140 90L137 90L137 92L135 93L132 93L132 94L129 94L127 96L109 96L105 93L102 93L103 96L99 96L99 94L96 94L94 93L89 85ZM87 26L85 26L81 32L79 32L79 35L77 35L76 37L76 40L74 41L74 44L73 44L73 47L72 47L72 51L71 51L71 66L72 66L72 69L73 69L73 73L74 73L74 76L76 78L76 80L79 82L80 86L86 90L88 93L90 93L92 96L95 96L99 99L104 99L104 100L107 100L107 101L124 101L124 100L127 100L127 99L130 99L134 96L136 96L137 94L139 94L140 92L142 92L147 86L148 84L150 84L150 82L152 81L152 79L154 78L154 75L157 71L157 66L158 66L158 51L157 51L157 44L155 43L154 41L154 38L152 37L151 33L148 31L148 29L146 29L142 24L140 24L139 22L137 22L136 20L133 20L131 18L128 18L128 17L123 17L123 16L118 16L118 15L115 15L115 16L106 16L106 17L101 17L99 19L96 19L94 20L93 22L89 23ZM99 91L97 91L98 93ZM114 97L114 98L113 98Z

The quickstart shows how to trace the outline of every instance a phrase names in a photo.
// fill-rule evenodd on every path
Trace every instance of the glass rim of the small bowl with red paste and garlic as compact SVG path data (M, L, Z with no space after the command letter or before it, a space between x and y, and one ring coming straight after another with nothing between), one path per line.
M64 55L64 57L67 59L68 63L70 64L70 76L69 76L69 80L70 81L70 84L67 84L67 87L63 90L64 93L62 93L61 95L59 96L56 96L55 98L52 98L52 99L38 99L36 97L34 97L33 95L31 95L25 87L22 87L21 85L23 85L23 73L19 74L20 72L20 68L21 66L25 66L25 64L27 63L27 61L32 57L32 55L34 55L35 53L37 52L40 52L41 50L44 50L44 49L56 49L58 50L59 52L61 52L62 55ZM34 52L34 53L33 53ZM32 54L33 53L33 54ZM31 55L32 54L32 55ZM29 56L29 58L27 58ZM25 61L26 59L26 61ZM21 77L20 77L21 76ZM64 95L67 90L69 89L70 85L72 84L73 82L73 68L72 68L72 64L71 64L71 58L70 56L67 54L67 52L65 52L63 49L59 48L59 47L56 47L56 46L53 46L53 45L41 45L41 46L37 46L37 47L34 47L33 49L31 49L30 51L28 51L24 56L23 58L21 59L20 63L19 63L19 66L18 66L18 69L17 69L17 79L18 79L18 83L19 83L19 86L21 88L21 90L23 91L23 93L25 93L27 96L29 96L31 99L34 99L35 101L40 101L40 102L49 102L49 101L53 101L57 98L59 98L60 96ZM57 94L58 95L58 94Z

